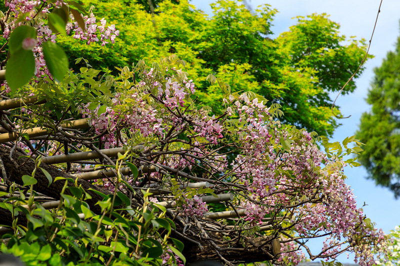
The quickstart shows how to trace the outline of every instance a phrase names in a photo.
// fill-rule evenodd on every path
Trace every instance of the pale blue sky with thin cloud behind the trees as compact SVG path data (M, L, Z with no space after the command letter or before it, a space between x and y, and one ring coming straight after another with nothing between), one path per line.
M197 8L211 14L209 3L211 0L192 0ZM330 19L340 24L340 32L346 36L370 39L380 0L247 0L253 8L260 4L269 4L276 8L278 13L273 20L273 36L287 31L295 23L295 16L305 16L311 13L327 13ZM373 68L379 66L386 53L394 49L397 37L400 35L400 1L383 0L381 12L378 17L375 33L369 50L375 57L365 64L366 69L362 76L356 80L357 89L351 95L339 96L336 105L340 106L343 116L350 118L341 119L340 126L336 129L332 141L342 141L347 136L354 135L358 128L359 119L363 112L369 110L365 103L369 83L373 78ZM334 95L336 97L336 95ZM333 97L333 98L334 98ZM377 228L382 228L385 233L400 225L400 200L395 200L393 194L387 189L376 187L373 181L365 179L366 172L362 167L345 168L348 179L346 183L354 190L356 200L364 213ZM320 249L320 243L310 245L315 253ZM350 263L345 255L338 258L340 262Z

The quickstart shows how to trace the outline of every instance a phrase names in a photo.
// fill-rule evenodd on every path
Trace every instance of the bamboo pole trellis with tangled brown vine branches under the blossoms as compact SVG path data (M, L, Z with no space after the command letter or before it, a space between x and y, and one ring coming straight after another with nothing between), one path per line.
M0 71L0 79L4 79L4 70ZM2 96L4 98L4 96ZM97 179L108 179L112 183L112 179L117 175L115 170L106 169L107 164L112 165L115 161L112 158L116 157L118 153L123 154L125 152L124 148L111 148L111 149L98 149L96 148L92 142L87 140L79 140L79 139L87 139L87 138L77 138L76 135L71 135L68 131L73 130L74 133L78 132L78 130L87 130L89 128L89 123L86 119L78 119L72 121L63 121L60 123L59 121L54 121L52 124L45 124L40 127L35 128L26 128L22 131L16 129L14 127L13 122L14 119L23 119L19 116L14 116L12 118L8 117L11 115L11 110L14 108L26 107L28 108L30 105L36 106L37 104L43 104L45 100L38 100L37 97L28 97L26 99L15 98L15 99L4 99L0 101L0 112L1 112L1 127L0 127L0 143L3 144L0 147L0 160L1 164L1 177L4 183L0 184L0 191L7 191L10 182L15 182L16 184L22 185L21 177L23 175L29 175L34 169L34 164L30 160L27 159L16 159L21 155L28 156L23 149L18 148L17 143L24 143L31 150L31 157L35 158L36 156L42 156L39 150L35 149L29 141L27 141L23 136L27 135L29 140L43 141L47 139L57 140L63 145L69 145L68 148L63 149L63 154L54 155L54 156L43 156L41 158L40 167L47 170L48 173L54 179L57 176L67 177L76 179L76 184L81 185L87 193L92 196L92 199L88 201L90 208L94 212L99 212L98 206L96 206L96 201L100 200L98 195L91 192L89 189L95 189L104 194L109 194L110 192L104 190L101 187L92 185L91 180ZM82 133L83 134L83 133ZM93 137L95 139L95 136ZM86 145L87 148L91 149L91 151L79 151L75 147L70 147L70 143L80 141L82 145ZM101 144L100 144L101 145ZM142 145L138 145L132 149L131 152L135 152L140 154L143 147ZM73 151L70 153L70 151ZM67 163L68 167L66 171L60 171L56 167L52 167L51 165L57 165ZM103 166L99 167L101 170L94 169L94 167L89 170L85 169L71 169L70 164L85 164L85 165L96 165L101 164ZM160 202L159 205L167 208L167 214L171 217L177 217L178 212L174 210L176 208L175 200L173 200L172 191L168 189L168 186L172 184L161 184L160 181L154 180L153 178L149 178L148 173L153 172L168 172L171 173L179 173L176 169L171 169L167 166L164 166L160 169L159 166L155 164L140 164L137 165L137 169L139 171L139 175L142 175L144 178L142 179L140 184L131 187L131 189L135 190L135 192L140 195L140 191L142 189L148 189L149 192L152 193L152 197L156 197ZM85 172L81 172L81 171ZM128 177L132 175L129 167L123 167L120 169L120 174ZM184 175L184 173L179 173ZM56 209L58 208L60 201L57 197L59 197L59 193L62 189L62 183L60 181L53 182L50 186L47 186L47 179L41 173L36 173L35 178L38 180L35 185L35 191L39 193L39 196L35 197L36 202L42 202L42 207L45 209ZM203 202L216 203L222 202L231 209L231 211L222 211L222 212L209 212L205 213L201 218L195 219L196 222L190 225L192 235L188 235L187 233L179 232L178 228L183 228L187 226L183 219L177 219L177 229L173 230L173 236L177 239L180 239L185 244L184 255L188 262L196 261L198 259L216 259L220 260L221 258L226 258L229 261L237 261L237 262L257 262L257 261L266 261L273 260L279 257L280 253L280 245L277 240L277 234L269 234L269 236L261 236L256 240L250 241L247 245L243 246L239 241L235 242L224 242L224 237L231 237L231 239L237 239L237 232L233 230L233 228L222 225L222 220L237 220L238 217L246 216L246 211L244 209L240 209L237 206L234 206L230 201L233 199L233 194L224 193L224 190L218 189L218 182L215 180L208 180L203 178L196 178L196 180L192 180L194 183L181 183L179 184L179 189L185 188L213 188L216 191L216 195L214 196L202 196L200 197ZM223 182L222 182L223 183ZM72 185L72 184L71 184ZM12 196L12 195L10 195ZM164 199L164 201L161 201ZM169 199L169 200L168 200ZM138 200L133 197L132 206L135 206L138 203ZM27 206L25 206L27 207ZM20 223L26 223L26 219L23 219L23 214L20 214ZM84 218L83 215L80 218ZM222 219L222 220L221 220ZM280 218L270 218L264 219L264 222L259 225L258 231L273 231L273 224L276 222L275 219ZM6 213L4 210L0 209L0 224L10 226L12 221L10 221L10 214ZM190 224L190 223L189 223ZM7 232L9 229L7 227L0 228L1 232ZM219 232L219 233L218 233ZM200 234L198 237L193 238L194 235ZM240 234L240 233L238 233ZM215 243L218 243L217 245Z

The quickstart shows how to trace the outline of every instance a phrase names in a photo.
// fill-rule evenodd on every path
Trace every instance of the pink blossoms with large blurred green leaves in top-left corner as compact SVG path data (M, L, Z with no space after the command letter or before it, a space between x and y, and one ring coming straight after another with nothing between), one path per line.
M104 19L97 25L94 15L87 14L75 1L9 0L5 5L8 10L6 14L1 12L0 26L6 41L0 50L6 56L0 65L7 69L6 83L2 82L6 92L15 92L29 80L33 82L33 75L63 79L68 71L68 58L55 43L58 34L73 31L74 38L87 44L101 41L102 45L108 43L106 40L113 43L119 34L114 25L105 27Z

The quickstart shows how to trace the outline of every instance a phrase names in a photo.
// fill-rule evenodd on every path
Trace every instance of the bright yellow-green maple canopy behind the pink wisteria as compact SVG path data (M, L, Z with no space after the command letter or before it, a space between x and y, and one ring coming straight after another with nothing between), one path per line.
M61 36L57 41L71 61L83 56L94 68L113 74L115 66L175 53L187 62L184 71L200 82L198 100L216 114L223 93L217 84L205 82L208 73L228 83L232 92L254 91L281 104L284 123L327 136L338 126L329 92L338 91L358 67L365 43L339 35L339 25L326 14L297 17L288 32L271 39L276 10L268 5L252 13L236 1L220 0L211 4L213 15L208 16L186 0L165 0L156 3L152 18L142 2L82 0L86 8L95 6L98 17L123 29L120 39L104 47ZM351 81L343 93L354 89Z

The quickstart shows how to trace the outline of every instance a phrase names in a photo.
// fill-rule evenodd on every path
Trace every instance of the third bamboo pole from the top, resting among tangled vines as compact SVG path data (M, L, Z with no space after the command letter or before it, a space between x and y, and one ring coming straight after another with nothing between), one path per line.
M143 145L137 145L137 146L133 147L134 152L139 152L142 149L143 149ZM121 154L125 153L125 150L121 147L104 149L104 150L100 150L100 151L108 157L115 157L118 155L118 153L121 153ZM76 152L76 153L70 153L70 154L47 156L47 157L41 158L41 162L45 163L45 164L59 164L59 163L70 163L70 162L75 162L75 161L100 159L100 158L102 158L102 155L99 154L98 152L88 151L88 152Z

